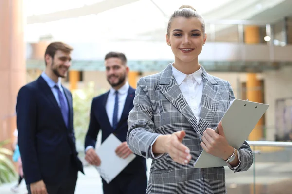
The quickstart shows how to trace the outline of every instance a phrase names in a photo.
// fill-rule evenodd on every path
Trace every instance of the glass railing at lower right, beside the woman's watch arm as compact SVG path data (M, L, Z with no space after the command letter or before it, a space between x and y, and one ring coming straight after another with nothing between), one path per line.
M291 194L292 142L248 141L254 163L246 172L225 169L228 194Z

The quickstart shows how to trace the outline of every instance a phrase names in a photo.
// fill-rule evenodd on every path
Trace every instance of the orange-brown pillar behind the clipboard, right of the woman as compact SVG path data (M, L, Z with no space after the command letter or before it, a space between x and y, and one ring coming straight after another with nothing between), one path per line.
M246 26L244 29L245 44L258 44L260 32L258 26ZM246 81L246 97L249 101L263 103L262 83L256 78L256 73L248 73ZM249 140L260 140L263 137L263 118L261 118L255 129L249 135Z

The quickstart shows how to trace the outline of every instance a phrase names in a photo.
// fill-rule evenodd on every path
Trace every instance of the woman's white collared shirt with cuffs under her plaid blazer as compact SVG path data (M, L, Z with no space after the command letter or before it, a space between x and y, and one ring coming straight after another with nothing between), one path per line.
M200 113L201 113L201 99L203 95L203 83L202 83L202 68L200 65L200 69L197 70L196 72L186 75L183 72L180 72L177 70L173 64L171 65L172 68L172 73L177 81L177 84L180 87L180 90L183 94L183 97L185 98L186 102L188 105L191 107L191 110L193 111L194 115L196 116L197 119L197 125L199 124L200 120ZM152 157L155 159L160 158L163 154L156 154L154 155L152 152L152 145L154 142L157 140L158 136L155 138L155 140L151 144L151 154ZM239 164L240 164L240 155L239 152L238 154L238 159L239 159ZM227 163L228 167L231 169L237 169L239 164L236 167L232 167L229 163Z

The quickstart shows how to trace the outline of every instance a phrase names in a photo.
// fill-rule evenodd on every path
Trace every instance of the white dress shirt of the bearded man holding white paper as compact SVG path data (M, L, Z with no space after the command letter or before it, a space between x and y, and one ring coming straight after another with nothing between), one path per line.
M119 97L118 122L120 121L123 110L124 110L129 87L130 87L129 83L126 82L125 85L123 85L120 89L118 89L118 97ZM115 89L110 88L109 96L106 103L106 111L107 111L107 115L108 115L111 127L112 127L112 118L113 118L113 110L114 110L114 103L115 103L115 91L116 91ZM90 148L94 149L93 146L87 146L85 148L85 153Z

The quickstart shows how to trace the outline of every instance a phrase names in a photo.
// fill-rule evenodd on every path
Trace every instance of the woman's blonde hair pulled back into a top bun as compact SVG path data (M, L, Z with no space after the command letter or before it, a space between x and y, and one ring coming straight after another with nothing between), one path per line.
M182 5L179 9L175 10L171 17L169 18L167 25L167 34L169 35L171 22L174 18L184 17L184 18L198 18L202 24L203 33L205 33L205 20L204 18L190 5Z

